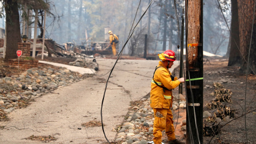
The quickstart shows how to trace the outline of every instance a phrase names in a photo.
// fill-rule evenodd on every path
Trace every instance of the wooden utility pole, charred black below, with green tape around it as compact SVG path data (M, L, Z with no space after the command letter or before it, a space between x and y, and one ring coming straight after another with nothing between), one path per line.
M203 143L203 0L186 0L186 45L187 143Z

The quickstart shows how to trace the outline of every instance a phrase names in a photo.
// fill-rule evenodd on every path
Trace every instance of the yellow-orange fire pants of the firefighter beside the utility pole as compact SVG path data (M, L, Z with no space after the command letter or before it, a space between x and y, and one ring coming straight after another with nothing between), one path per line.
M155 120L153 127L154 143L162 143L162 131L165 130L165 133L168 137L168 141L175 139L174 126L173 126L173 115L171 109L162 109L162 108L153 108ZM157 117L156 113L159 111L163 117Z

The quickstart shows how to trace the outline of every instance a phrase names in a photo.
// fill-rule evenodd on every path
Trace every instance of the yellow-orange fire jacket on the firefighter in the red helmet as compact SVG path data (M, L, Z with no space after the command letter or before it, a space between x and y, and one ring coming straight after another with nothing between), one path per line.
M172 89L179 86L180 81L172 81L171 73L169 69L167 69L162 61L159 61L159 68L156 69L154 80L155 82L165 87L157 86L152 79L151 81L151 91L150 91L150 107L151 108L164 108L170 109L172 107Z

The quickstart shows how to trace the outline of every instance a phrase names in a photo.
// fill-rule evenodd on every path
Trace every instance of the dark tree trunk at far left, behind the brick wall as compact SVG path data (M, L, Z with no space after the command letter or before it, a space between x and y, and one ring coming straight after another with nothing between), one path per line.
M18 43L21 42L18 3L5 0L6 13L6 55L5 60L17 58ZM17 33L18 31L18 33Z

